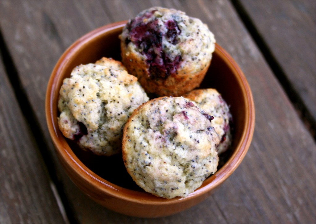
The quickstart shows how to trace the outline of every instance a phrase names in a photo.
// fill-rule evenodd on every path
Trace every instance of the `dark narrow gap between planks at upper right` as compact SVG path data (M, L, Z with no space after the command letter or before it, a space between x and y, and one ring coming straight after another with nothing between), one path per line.
M316 120L308 110L304 101L302 100L300 94L295 91L295 88L292 86L288 77L286 76L284 70L278 63L277 59L273 56L270 48L267 43L264 41L263 37L258 32L254 23L252 22L249 14L246 12L246 9L240 3L240 0L230 0L233 7L235 8L237 15L240 17L240 20L246 27L246 30L256 43L258 49L261 51L264 59L272 70L273 74L276 76L278 82L282 86L286 95L289 97L289 100L293 104L295 111L297 112L299 118L302 120L303 124L313 136L314 141L316 141Z

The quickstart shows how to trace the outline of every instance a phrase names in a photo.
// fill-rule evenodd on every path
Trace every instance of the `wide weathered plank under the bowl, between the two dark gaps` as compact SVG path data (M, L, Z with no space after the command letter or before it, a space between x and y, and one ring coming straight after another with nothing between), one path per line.
M152 5L177 8L207 23L244 71L256 106L245 160L204 202L159 219L119 215L92 202L60 173L72 212L82 223L314 223L315 143L228 1L1 1L2 32L48 148L44 94L62 52L93 28L125 20ZM13 9L14 10L10 10ZM71 10L69 10L71 9ZM84 10L83 10L84 9ZM71 11L71 12L70 12ZM12 26L11 21L15 21ZM35 32L36 31L36 32ZM23 37L23 38L22 38ZM38 46L41 46L39 48ZM23 58L22 63L20 58ZM34 91L36 89L36 91ZM275 108L278 108L276 110ZM304 149L304 150L302 150ZM52 158L56 167L58 161ZM84 205L84 206L82 206ZM193 215L194 214L194 215Z

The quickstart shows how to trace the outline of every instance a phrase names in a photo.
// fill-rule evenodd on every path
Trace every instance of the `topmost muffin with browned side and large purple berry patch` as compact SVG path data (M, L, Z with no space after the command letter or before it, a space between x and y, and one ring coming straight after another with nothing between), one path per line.
M215 50L206 24L175 9L153 7L130 20L120 35L128 72L147 93L180 96L198 87Z

